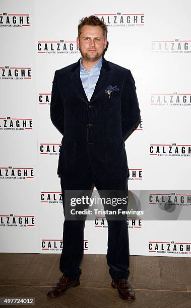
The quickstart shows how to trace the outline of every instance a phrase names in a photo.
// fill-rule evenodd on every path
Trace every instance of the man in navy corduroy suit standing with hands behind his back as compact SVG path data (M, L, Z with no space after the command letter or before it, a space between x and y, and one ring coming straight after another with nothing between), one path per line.
M66 190L128 191L129 169L124 140L137 128L140 109L135 81L129 69L102 56L107 27L95 16L78 26L77 63L55 71L50 103L52 123L63 135L57 174L60 176L63 209ZM135 299L128 282L129 239L126 220L107 220L107 264L125 300ZM60 296L80 284L84 221L63 224L63 249L59 269L63 273L48 291Z

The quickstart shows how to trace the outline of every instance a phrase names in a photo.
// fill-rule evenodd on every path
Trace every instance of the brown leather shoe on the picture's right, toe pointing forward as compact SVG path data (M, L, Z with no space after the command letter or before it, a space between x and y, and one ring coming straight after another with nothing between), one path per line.
M111 286L118 289L119 297L124 300L135 299L135 292L128 279L112 279Z

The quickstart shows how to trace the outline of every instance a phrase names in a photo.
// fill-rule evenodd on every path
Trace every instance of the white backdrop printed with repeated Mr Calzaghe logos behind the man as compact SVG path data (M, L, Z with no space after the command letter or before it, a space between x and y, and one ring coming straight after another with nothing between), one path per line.
M89 15L108 25L105 58L131 69L136 82L142 121L125 141L130 192L168 191L190 208L190 9L186 0L97 0L87 8L1 0L1 252L61 252L62 136L50 121L51 87L54 71L80 58L77 26ZM190 257L190 229L188 220L130 219L130 253ZM85 253L106 249L105 219L86 221Z

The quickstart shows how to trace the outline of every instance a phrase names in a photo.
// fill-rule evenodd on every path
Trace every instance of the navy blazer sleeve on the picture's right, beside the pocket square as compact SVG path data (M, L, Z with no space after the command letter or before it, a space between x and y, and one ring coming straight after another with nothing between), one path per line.
M124 140L138 127L140 119L135 80L131 70L128 69L124 77L121 93L121 128Z

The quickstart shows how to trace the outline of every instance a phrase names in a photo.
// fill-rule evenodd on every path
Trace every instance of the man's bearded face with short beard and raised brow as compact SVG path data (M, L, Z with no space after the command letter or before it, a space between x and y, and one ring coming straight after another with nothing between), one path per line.
M84 25L81 29L80 38L77 37L77 46L83 58L87 61L97 61L107 45L100 26Z

